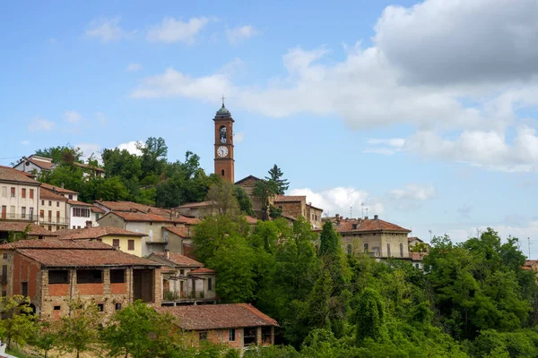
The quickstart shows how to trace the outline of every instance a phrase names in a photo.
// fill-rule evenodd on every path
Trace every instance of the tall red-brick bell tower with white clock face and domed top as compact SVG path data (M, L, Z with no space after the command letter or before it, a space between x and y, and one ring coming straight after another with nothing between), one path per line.
M230 111L222 107L213 118L215 123L215 174L229 183L235 183L233 159L233 123Z

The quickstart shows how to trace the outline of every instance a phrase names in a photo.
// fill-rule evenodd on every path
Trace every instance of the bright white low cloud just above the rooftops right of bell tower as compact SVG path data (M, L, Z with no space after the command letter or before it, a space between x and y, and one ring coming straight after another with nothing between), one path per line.
M349 217L350 208L352 216L360 217L361 204L369 209L369 216L383 214L383 203L370 198L369 192L353 187L335 187L321 192L314 192L310 188L292 189L288 195L306 195L307 201L317 208L324 210L324 215L334 216L340 214Z

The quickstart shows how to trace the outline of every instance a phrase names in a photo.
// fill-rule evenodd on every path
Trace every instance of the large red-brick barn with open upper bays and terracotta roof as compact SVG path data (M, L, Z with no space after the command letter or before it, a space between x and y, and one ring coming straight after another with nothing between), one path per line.
M0 245L2 295L22 294L43 320L69 313L75 297L112 314L142 300L161 305L161 265L85 240L22 240Z

